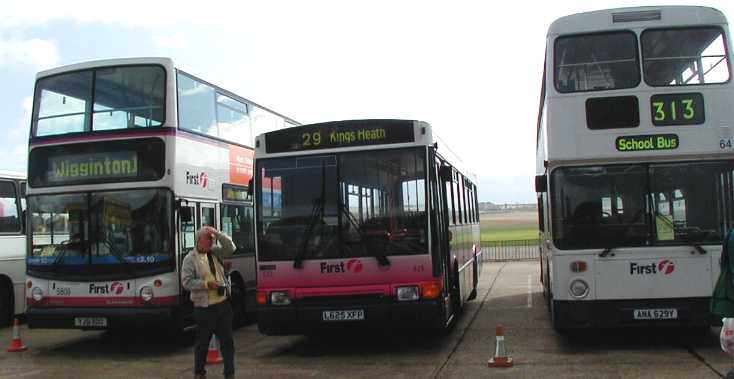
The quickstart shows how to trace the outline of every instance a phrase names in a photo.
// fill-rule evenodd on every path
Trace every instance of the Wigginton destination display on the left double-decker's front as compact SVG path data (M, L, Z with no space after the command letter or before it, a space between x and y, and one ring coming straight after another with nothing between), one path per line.
M120 140L44 146L28 160L32 187L147 181L163 177L162 140Z

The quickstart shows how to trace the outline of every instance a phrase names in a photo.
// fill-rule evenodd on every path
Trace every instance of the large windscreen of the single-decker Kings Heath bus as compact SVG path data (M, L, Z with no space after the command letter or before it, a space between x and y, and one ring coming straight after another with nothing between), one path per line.
M425 148L259 160L261 261L426 254Z

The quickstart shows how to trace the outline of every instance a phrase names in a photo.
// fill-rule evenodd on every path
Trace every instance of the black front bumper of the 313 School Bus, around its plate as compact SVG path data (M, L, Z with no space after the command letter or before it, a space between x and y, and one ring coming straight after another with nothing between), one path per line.
M711 298L553 301L560 329L611 327L707 326L721 322L709 312ZM675 310L675 318L636 317L636 311ZM667 312L667 311L666 311Z

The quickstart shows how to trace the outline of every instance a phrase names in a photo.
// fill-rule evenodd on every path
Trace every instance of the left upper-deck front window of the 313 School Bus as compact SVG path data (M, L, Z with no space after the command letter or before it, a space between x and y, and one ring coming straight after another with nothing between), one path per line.
M559 37L555 86L559 92L636 87L640 83L637 39L632 32Z

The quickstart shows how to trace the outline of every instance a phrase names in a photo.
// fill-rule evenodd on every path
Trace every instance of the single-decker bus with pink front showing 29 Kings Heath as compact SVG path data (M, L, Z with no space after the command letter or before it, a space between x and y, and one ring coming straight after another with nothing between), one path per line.
M448 328L482 268L475 179L420 121L255 140L258 327Z

